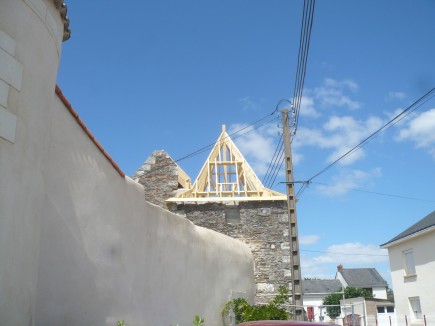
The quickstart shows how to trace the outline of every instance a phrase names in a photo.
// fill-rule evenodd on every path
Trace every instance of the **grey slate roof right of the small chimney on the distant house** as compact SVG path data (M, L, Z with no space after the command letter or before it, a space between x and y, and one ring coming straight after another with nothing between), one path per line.
M344 268L341 273L348 286L375 287L388 286L388 283L378 273L376 268Z

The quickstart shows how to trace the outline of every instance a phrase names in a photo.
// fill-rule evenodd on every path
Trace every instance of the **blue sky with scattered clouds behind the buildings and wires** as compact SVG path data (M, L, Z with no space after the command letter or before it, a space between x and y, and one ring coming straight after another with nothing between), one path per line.
M58 84L128 175L174 159L291 99L302 1L68 2ZM317 1L293 142L307 180L435 87L435 2ZM236 144L262 178L279 119ZM208 152L179 165L196 178ZM302 273L376 267L379 245L435 209L435 98L313 179L297 206ZM284 192L276 179L274 189ZM393 196L412 197L414 199Z

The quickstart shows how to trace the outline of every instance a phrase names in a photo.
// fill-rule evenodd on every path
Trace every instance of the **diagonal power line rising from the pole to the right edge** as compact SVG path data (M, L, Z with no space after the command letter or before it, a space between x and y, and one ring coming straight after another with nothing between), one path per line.
M368 143L373 137L375 137L377 134L379 134L382 130L390 128L394 124L401 121L403 118L417 110L421 105L426 103L429 99L431 99L435 95L435 88L432 88L429 92L424 94L422 97L420 97L417 101L412 103L410 106L408 106L405 110L403 110L401 113L396 115L393 119L388 121L386 124L384 124L381 128L370 134L367 138L365 138L363 141L361 141L358 145L341 155L339 158L337 158L335 161L330 163L328 166L320 170L318 173L313 175L311 178L309 178L307 181L311 182L314 178L317 178L319 175L325 173L327 170L329 170L332 166L346 158L347 156L351 155L352 153L356 152L358 149L360 149L362 146L364 146L366 143Z

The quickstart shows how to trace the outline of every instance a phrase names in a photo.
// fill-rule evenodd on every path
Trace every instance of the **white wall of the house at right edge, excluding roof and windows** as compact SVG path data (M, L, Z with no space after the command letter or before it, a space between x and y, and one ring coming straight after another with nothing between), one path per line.
M406 315L408 321L422 324L425 315L427 320L435 322L435 231L392 243L387 248L398 319ZM410 252L415 273L406 271L405 254ZM410 300L413 299L419 299L420 316L412 312Z

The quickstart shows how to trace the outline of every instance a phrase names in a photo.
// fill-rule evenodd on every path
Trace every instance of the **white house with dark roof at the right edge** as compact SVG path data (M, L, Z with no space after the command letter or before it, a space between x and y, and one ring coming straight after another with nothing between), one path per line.
M399 324L435 322L435 211L381 248L388 249Z

